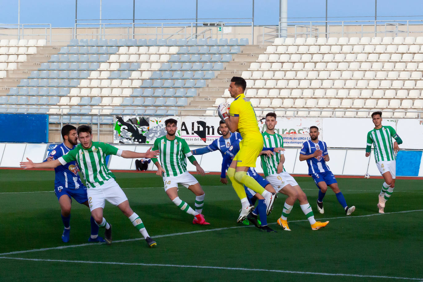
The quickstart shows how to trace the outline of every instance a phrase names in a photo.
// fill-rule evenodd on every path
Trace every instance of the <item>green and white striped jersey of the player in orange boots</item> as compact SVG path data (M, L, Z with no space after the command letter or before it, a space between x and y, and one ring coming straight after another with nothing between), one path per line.
M269 134L264 131L261 135L263 135L264 147L272 148L272 147L281 147L283 148L283 140L282 136L279 134ZM272 157L268 157L266 155L261 155L261 168L263 169L264 176L269 176L271 174L277 173L277 165L280 161L280 153L275 153ZM285 171L285 168L283 169Z

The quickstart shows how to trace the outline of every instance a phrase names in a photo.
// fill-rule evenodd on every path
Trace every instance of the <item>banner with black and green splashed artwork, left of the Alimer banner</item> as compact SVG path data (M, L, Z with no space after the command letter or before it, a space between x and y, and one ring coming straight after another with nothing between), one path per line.
M181 123L179 117L144 117L115 115L113 117L113 143L115 144L153 144L157 137L166 135L165 120L173 118ZM180 130L176 136L181 136Z

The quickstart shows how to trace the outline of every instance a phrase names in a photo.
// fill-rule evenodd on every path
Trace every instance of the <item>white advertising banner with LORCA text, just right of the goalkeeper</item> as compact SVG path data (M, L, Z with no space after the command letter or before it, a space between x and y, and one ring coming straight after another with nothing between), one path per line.
M265 118L258 121L260 131L266 130ZM277 118L275 131L282 135L284 147L301 147L302 143L310 140L308 135L310 126L319 128L319 139L323 139L323 127L321 118Z

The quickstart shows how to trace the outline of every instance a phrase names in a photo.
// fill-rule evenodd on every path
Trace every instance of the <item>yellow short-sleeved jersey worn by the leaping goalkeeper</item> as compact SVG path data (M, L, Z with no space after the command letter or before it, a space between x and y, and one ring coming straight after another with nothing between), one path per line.
M263 139L258 128L253 105L249 99L245 98L244 93L236 96L229 108L229 114L233 117L239 117L238 131L243 139Z

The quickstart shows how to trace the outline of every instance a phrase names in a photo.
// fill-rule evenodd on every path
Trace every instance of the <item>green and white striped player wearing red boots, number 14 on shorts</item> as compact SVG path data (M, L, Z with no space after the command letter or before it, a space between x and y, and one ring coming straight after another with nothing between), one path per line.
M175 136L177 122L173 118L165 120L167 134L154 141L153 150L160 152L160 162L157 158L152 158L152 161L157 166L156 174L163 177L165 192L170 200L182 211L194 216L193 224L209 224L201 214L206 194L198 180L190 172L187 172L186 158L197 167L197 172L200 172L202 176L204 176L204 170L192 155L187 141ZM195 194L195 211L188 203L179 199L178 183L181 183Z

